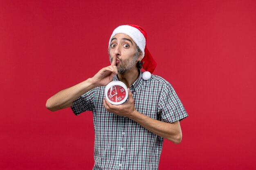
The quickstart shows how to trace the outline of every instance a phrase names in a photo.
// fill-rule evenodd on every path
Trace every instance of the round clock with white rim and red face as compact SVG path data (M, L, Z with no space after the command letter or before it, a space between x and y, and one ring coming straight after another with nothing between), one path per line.
M120 81L110 82L105 88L105 97L111 104L123 104L128 98L126 85Z

